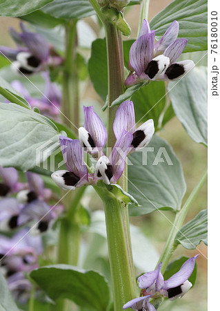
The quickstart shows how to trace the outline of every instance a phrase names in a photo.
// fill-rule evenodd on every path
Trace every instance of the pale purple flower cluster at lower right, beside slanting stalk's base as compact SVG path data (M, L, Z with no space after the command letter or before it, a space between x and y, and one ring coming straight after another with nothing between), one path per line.
M166 281L163 280L160 263L156 270L139 276L139 288L151 296L158 293L161 296L167 296L170 300L181 298L192 287L192 283L188 279L194 270L195 259L198 256L189 258L183 263L180 270Z

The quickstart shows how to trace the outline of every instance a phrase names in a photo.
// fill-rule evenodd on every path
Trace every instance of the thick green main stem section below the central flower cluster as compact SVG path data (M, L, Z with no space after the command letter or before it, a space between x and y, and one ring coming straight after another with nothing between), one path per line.
M130 247L128 224L128 206L122 205L117 198L106 193L101 187L94 187L103 200L106 215L106 230L114 310L122 310L123 304L137 297L134 277L134 265Z

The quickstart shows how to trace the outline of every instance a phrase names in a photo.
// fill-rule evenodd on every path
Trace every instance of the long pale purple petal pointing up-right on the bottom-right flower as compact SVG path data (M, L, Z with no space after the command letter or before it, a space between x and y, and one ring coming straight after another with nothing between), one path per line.
M163 290L168 290L169 288L176 288L177 286L183 284L186 280L189 279L192 271L194 270L194 263L196 258L199 255L196 255L192 258L189 258L183 265L180 270L173 274L170 279L164 281Z

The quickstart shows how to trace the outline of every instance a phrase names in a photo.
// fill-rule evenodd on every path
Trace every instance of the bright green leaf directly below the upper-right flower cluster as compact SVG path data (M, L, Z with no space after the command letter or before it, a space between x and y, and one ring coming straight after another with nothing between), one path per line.
M150 82L147 86L140 88L131 100L134 102L136 122L154 120L155 129L159 123L159 117L166 104L165 82Z

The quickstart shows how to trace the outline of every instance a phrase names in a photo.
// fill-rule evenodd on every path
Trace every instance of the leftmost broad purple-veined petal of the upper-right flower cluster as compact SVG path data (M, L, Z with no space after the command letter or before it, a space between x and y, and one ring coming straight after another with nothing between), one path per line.
M153 57L154 51L154 30L147 35L139 37L130 48L129 59L130 66L134 68L138 77L144 73L148 63Z

